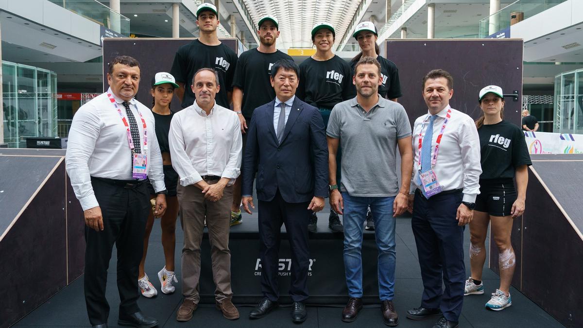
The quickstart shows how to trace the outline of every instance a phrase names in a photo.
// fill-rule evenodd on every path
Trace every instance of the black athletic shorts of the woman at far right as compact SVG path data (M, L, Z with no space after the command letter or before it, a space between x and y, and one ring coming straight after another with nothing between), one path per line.
M476 211L494 217L506 217L512 211L517 192L512 179L480 180L480 194L476 197Z

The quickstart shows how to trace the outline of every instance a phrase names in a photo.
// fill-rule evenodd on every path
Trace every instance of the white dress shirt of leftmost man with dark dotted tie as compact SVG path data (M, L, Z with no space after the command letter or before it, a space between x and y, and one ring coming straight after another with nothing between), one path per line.
M107 97L107 93L111 93L115 102L121 106L122 114L125 116L125 108L122 105L124 100L116 97L110 88L106 93L102 93L79 107L69 131L65 157L66 170L71 179L75 196L77 196L84 211L99 206L91 185L92 176L132 180L132 151L129 149L126 127L117 109ZM164 186L162 156L156 138L152 111L135 99L129 101L129 108L138 122L142 152L144 131L140 113L146 121L146 173L154 191L164 190L166 186Z

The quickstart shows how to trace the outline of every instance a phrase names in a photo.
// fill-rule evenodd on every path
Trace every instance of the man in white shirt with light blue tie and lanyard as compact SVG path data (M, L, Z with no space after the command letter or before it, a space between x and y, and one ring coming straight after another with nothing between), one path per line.
M482 173L476 125L449 106L453 84L443 69L424 76L428 113L413 127L409 207L424 289L421 306L408 310L407 317L439 318L434 328L458 326L466 276L463 229L472 221Z

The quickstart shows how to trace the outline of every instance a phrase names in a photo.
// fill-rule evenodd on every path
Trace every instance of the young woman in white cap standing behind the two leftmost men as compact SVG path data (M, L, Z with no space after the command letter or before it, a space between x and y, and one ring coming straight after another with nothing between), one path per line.
M174 282L177 282L174 274L174 250L176 246L175 229L176 217L178 216L178 198L176 197L176 185L178 183L178 173L172 168L170 160L170 147L168 146L168 131L170 131L170 121L173 114L170 111L170 101L174 96L174 89L178 85L174 81L174 76L160 72L154 75L152 79L152 97L153 107L152 114L156 122L156 138L160 145L160 152L162 153L162 164L164 166L164 184L166 184L166 213L160 218L160 226L162 228L162 247L164 249L164 264L165 266L158 272L158 280L160 281L161 291L164 294L172 294L175 290ZM150 127L148 127L150 132ZM148 136L150 134L148 133ZM153 136L153 134L152 134ZM150 194L154 197L154 189L146 180L146 184ZM143 296L152 298L158 294L152 282L150 282L145 273L147 245L150 239L150 232L154 225L154 215L150 211L147 217L146 232L144 235L144 250L142 261L139 266L138 285Z

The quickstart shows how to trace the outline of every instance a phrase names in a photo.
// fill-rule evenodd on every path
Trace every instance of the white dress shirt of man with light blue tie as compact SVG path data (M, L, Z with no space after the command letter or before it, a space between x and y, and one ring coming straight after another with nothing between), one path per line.
M437 162L434 172L437 176L442 190L463 189L463 201L474 203L477 194L480 193L480 174L482 166L480 165L480 139L474 121L468 115L459 110L445 107L439 113L433 122L433 141L431 142L431 154L435 151L437 137L441 132L441 126L445 120L448 109L451 109L451 118L445 127ZM416 188L422 190L419 186L417 176L419 175L419 133L423 122L423 130L427 130L429 124L429 111L423 115L413 125L413 179L412 190ZM423 131L423 136L425 131Z

